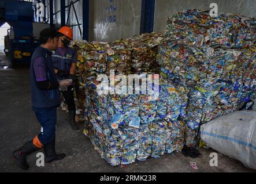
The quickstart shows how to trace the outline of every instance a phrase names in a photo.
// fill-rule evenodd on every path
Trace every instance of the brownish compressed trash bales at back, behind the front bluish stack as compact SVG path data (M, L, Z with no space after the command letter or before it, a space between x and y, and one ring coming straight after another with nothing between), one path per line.
M159 74L157 63L158 45L164 40L162 33L142 34L129 39L112 43L92 41L73 41L71 47L78 55L77 84L75 104L77 121L85 121L84 106L86 95L84 87L99 74L138 74L139 72L155 72Z

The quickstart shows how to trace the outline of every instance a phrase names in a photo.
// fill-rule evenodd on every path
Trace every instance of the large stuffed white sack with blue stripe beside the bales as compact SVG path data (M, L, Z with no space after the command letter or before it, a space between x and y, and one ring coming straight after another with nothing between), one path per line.
M209 121L201 139L214 150L256 170L256 111L239 111Z

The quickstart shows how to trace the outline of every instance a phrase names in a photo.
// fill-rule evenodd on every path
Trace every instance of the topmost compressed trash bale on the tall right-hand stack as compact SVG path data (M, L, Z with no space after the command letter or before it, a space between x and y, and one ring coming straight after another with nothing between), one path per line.
M173 14L167 21L166 36L195 47L250 48L255 44L255 19L235 14L185 10Z

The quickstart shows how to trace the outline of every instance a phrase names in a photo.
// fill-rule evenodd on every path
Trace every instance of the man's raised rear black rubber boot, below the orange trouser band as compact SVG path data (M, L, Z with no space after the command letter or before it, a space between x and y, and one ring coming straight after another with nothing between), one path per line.
M32 152L38 150L40 150L40 148L36 147L31 140L25 143L23 147L21 147L19 150L13 151L13 156L16 159L17 164L18 166L20 166L20 168L22 168L23 170L28 170L29 166L26 158L29 154L32 154Z

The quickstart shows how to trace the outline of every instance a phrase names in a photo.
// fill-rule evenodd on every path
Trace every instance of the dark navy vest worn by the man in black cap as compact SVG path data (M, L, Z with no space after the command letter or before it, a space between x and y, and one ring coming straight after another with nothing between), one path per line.
M60 105L61 97L60 90L40 90L36 85L36 77L33 69L33 64L38 57L44 57L46 59L46 74L47 81L57 82L57 76L53 69L53 60L51 59L51 51L46 48L38 47L35 49L30 66L30 82L31 82L31 95L32 106L35 108L50 108Z

